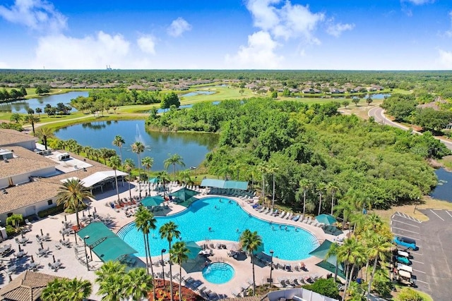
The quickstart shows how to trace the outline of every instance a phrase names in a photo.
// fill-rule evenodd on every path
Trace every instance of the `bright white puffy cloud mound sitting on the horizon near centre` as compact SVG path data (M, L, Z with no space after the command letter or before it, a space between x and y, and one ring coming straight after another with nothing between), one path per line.
M226 56L227 66L231 68L275 69L284 60L275 54L278 43L265 31L254 32L248 36L248 45L241 46L237 54Z

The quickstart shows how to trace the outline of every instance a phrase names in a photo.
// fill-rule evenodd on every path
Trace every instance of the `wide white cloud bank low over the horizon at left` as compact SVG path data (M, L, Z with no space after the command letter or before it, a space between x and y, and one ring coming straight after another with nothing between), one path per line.
M105 65L124 68L130 52L130 42L121 35L97 32L81 39L64 35L40 37L31 68L103 69Z

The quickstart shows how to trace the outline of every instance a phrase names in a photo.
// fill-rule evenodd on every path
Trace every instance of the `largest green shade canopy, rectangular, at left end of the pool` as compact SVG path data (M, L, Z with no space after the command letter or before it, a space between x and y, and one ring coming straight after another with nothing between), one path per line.
M77 233L102 262L121 260L136 250L100 222L90 223Z

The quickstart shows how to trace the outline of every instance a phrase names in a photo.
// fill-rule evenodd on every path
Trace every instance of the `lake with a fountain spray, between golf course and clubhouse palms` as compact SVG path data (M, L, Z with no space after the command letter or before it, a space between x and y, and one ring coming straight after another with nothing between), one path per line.
M164 169L163 161L168 154L179 154L184 159L185 168L198 166L218 142L218 135L205 133L160 133L147 132L144 121L98 121L81 123L61 128L55 132L61 140L74 139L78 144L94 148L107 147L115 149L119 156L119 149L112 145L114 136L121 135L126 141L122 147L123 160L130 158L138 166L138 157L131 152L133 142L141 141L146 146L145 156L154 158L153 171ZM181 169L179 166L176 168ZM172 168L169 168L169 172Z

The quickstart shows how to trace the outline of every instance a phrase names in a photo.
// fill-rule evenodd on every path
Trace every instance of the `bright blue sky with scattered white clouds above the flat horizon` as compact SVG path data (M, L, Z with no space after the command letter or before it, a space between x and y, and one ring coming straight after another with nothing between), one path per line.
M449 70L450 0L0 0L0 68Z

